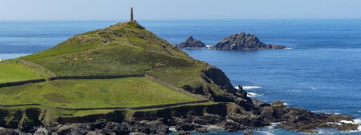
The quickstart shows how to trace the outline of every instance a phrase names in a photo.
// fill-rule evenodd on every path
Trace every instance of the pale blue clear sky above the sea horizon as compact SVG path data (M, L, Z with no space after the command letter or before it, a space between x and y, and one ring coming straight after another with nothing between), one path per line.
M1 0L0 20L361 18L361 0Z

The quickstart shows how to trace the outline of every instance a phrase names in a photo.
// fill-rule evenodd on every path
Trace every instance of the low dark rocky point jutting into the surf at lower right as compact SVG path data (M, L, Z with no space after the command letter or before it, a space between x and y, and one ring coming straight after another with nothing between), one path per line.
M339 130L357 130L356 124L331 124L342 120L352 121L353 117L338 114L313 113L304 109L287 107L282 101L275 101L264 107L261 117L265 122L281 122L280 127L287 130L316 133L316 127L338 127Z

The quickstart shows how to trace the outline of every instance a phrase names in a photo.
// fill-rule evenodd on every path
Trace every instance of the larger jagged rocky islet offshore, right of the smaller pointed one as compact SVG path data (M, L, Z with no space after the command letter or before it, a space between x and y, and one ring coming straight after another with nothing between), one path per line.
M245 33L234 33L221 40L211 49L283 49L283 45L267 45L261 42L256 35Z

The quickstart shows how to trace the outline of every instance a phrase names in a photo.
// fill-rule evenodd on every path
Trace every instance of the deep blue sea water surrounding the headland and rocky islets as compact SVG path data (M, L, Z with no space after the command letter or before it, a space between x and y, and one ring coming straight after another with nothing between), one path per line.
M121 21L0 21L0 57L36 53L73 35L117 22ZM138 20L138 23L172 44L192 35L206 45L214 45L232 33L246 32L257 35L266 44L285 45L290 49L183 50L195 59L221 68L231 83L243 85L251 98L265 102L283 100L288 106L315 113L339 113L361 119L361 19ZM243 133L210 131L211 135ZM361 134L335 129L320 131L319 134ZM252 132L303 134L275 125Z

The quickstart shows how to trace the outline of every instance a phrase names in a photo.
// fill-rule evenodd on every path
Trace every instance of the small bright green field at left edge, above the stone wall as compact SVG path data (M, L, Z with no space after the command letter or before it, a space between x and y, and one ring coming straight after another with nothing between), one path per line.
M0 62L0 83L51 77L37 67L23 63Z

